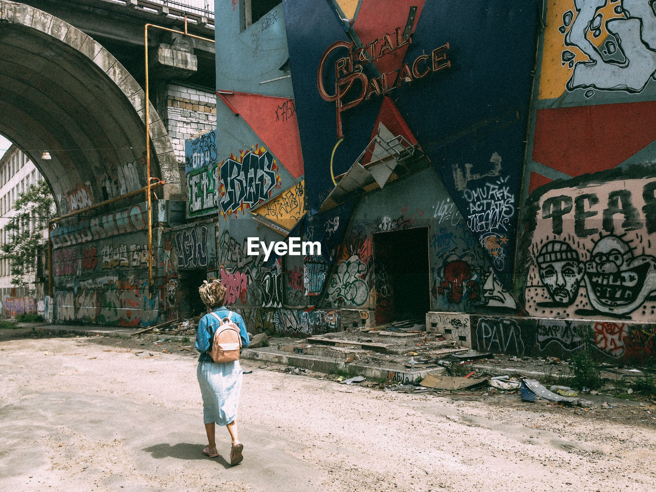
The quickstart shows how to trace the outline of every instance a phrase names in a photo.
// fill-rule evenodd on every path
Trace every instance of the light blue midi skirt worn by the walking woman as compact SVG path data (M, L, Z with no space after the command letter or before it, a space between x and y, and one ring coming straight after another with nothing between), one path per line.
M239 361L199 362L196 370L203 395L203 422L230 424L237 418L241 379Z

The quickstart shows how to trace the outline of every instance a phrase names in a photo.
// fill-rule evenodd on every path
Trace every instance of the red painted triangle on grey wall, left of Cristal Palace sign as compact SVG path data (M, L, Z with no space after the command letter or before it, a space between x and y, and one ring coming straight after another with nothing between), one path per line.
M298 178L304 172L300 152L300 136L293 99L247 94L245 92L217 92L233 113L243 117L289 173Z

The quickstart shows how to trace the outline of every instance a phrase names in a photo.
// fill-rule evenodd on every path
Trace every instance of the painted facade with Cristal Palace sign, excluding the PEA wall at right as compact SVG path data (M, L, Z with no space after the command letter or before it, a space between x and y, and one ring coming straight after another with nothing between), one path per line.
M288 0L249 28L242 7L216 2L218 131L186 145L186 216L216 220L226 302L268 333L335 331L345 308L399 319L403 237L424 312L514 312L535 3ZM370 182L331 202L360 165ZM265 260L248 237L321 254Z

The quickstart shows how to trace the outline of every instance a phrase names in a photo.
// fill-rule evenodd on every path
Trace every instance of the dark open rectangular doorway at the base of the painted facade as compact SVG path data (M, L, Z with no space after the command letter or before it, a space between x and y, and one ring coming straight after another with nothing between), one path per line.
M376 324L426 318L430 310L428 228L373 235Z

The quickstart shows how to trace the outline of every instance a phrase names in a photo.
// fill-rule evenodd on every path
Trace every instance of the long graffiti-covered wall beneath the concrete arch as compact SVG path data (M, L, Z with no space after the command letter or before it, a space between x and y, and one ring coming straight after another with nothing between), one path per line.
M179 216L179 205L161 202L154 222ZM163 228L155 228L150 287L147 220L144 202L52 230L54 321L146 327L176 318L170 287L170 280L177 277L176 258L197 261L205 254L205 238L201 243L183 236L176 247Z

